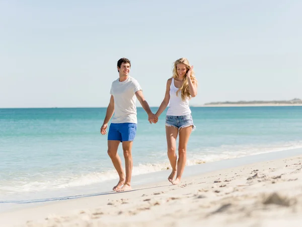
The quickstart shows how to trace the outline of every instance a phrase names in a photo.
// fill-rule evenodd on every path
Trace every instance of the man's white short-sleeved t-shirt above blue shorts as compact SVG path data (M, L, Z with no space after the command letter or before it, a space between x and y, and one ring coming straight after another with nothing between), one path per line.
M114 115L111 123L137 124L135 92L139 90L142 89L137 80L130 76L125 81L120 82L118 78L112 82L110 94L114 98Z

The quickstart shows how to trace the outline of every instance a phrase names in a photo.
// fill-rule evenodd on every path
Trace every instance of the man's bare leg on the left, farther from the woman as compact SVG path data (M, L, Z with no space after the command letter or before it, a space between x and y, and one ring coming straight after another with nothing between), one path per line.
M108 155L111 158L111 161L118 173L119 181L112 190L116 191L122 187L125 183L125 174L122 167L121 159L117 153L118 145L120 144L119 140L108 140Z

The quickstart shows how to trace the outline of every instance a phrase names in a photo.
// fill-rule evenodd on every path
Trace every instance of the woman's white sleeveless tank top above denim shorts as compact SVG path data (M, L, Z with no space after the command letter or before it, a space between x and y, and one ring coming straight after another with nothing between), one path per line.
M170 104L167 111L168 116L184 116L191 113L189 107L189 98L187 97L185 101L181 99L181 92L179 91L176 95L178 88L174 85L174 78L170 85Z

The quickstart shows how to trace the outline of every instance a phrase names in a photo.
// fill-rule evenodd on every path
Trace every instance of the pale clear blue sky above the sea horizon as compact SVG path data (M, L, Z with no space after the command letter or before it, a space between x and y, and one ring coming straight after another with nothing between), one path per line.
M210 101L302 98L302 2L0 0L0 107L107 106L131 61L159 106L181 57Z

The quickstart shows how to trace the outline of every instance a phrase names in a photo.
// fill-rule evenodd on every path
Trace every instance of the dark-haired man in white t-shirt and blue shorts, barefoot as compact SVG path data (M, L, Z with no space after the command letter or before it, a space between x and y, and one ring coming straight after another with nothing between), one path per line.
M107 107L106 117L101 127L101 134L107 133L108 122L112 118L108 132L108 155L118 173L119 182L113 187L117 192L131 190L132 154L131 148L136 134L136 98L148 115L148 121L156 123L158 118L150 110L147 101L144 99L142 89L138 82L129 76L131 63L128 59L122 58L117 62L119 78L112 82L110 90L110 102ZM117 154L118 146L122 142L126 177L122 163Z

